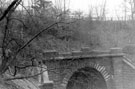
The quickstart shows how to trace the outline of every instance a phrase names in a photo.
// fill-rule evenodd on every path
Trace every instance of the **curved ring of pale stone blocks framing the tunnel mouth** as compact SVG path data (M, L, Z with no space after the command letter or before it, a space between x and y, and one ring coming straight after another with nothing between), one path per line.
M62 89L66 89L68 81L71 78L71 76L74 74L74 72L78 71L78 69L82 69L82 68L86 68L86 67L93 68L93 69L97 70L99 73L101 73L101 75L105 79L105 82L107 82L109 79L111 79L111 75L107 72L105 66L101 66L100 64L93 63L93 62L91 62L89 64L82 63L81 65L77 66L76 68L73 68L72 70L69 69L69 70L65 71L65 73L67 73L67 74L63 78L63 81L61 83Z

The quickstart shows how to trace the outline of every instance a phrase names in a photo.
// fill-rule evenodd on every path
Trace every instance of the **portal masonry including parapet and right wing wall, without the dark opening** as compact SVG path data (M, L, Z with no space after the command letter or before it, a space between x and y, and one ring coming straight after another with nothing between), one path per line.
M49 50L43 53L43 63L49 70L49 80L53 81L54 89L67 89L71 76L79 69L87 67L95 68L103 75L108 89L133 89L126 86L134 83L131 81L134 81L135 73L135 67L131 65L133 62L128 60L128 56L125 58L127 54L134 55L135 46L109 50L91 50L89 47L83 47L63 53Z

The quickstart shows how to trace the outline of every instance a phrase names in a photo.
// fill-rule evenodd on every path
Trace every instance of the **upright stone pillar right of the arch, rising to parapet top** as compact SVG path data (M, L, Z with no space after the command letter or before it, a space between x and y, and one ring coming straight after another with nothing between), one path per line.
M123 54L121 49L111 49L111 54L113 55L113 81L115 89L123 89L123 78L122 78L122 60Z

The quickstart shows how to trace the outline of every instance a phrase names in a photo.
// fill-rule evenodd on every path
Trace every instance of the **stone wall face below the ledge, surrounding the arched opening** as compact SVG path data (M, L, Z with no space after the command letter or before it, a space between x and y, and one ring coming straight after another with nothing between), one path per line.
M97 69L105 78L108 89L114 89L114 71L110 57L51 61L47 65L48 70L51 70L49 71L49 79L54 82L54 89L66 89L66 85L72 74L77 69L84 67Z

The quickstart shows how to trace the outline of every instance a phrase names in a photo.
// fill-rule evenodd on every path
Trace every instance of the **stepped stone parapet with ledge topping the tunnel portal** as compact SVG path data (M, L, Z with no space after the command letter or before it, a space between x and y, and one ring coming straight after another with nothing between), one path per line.
M111 48L109 50L91 50L89 47L83 47L80 50L72 52L63 52L60 53L56 50L44 51L43 56L44 60L65 60L65 59L83 59L91 57L113 57L113 56L122 56L124 53L121 48Z

